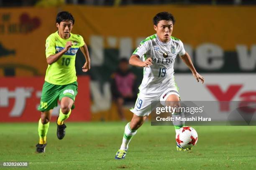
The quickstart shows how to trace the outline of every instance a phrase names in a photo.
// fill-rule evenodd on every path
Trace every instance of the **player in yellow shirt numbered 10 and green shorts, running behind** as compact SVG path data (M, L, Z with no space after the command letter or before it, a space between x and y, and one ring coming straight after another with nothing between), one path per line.
M46 134L51 120L51 112L61 103L57 120L57 137L61 140L65 136L64 120L74 109L74 100L77 95L77 76L75 58L80 48L86 62L82 67L84 72L90 70L90 57L84 39L81 35L72 34L74 17L71 13L63 11L57 14L56 27L58 31L46 39L46 70L45 82L38 110L41 118L38 122L39 143L36 145L37 153L44 153L46 147Z

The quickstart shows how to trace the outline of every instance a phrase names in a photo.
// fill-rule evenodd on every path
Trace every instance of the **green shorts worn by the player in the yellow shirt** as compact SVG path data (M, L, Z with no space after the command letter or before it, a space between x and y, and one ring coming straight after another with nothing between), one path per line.
M54 85L49 82L44 82L40 105L37 110L41 112L49 111L58 105L58 99L61 101L63 97L69 97L75 100L77 95L77 82L72 82L68 85ZM74 108L74 104L72 109Z

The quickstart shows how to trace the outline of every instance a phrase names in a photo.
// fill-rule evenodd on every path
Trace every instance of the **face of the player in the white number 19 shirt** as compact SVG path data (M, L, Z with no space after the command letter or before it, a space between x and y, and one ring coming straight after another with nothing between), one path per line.
M173 30L172 20L160 20L157 25L154 25L154 30L162 42L168 42Z

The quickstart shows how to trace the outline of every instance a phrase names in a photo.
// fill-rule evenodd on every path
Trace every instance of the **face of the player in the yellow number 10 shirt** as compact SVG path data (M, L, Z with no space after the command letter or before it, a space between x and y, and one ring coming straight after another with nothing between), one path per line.
M73 28L73 23L71 20L61 21L61 23L56 23L56 27L58 27L59 35L67 39Z

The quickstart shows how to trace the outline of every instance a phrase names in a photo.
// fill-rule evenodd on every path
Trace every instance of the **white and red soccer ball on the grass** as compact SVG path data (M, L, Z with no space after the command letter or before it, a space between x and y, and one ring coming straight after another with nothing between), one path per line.
M192 148L197 143L197 139L197 131L189 126L180 128L176 134L176 141L182 148Z

